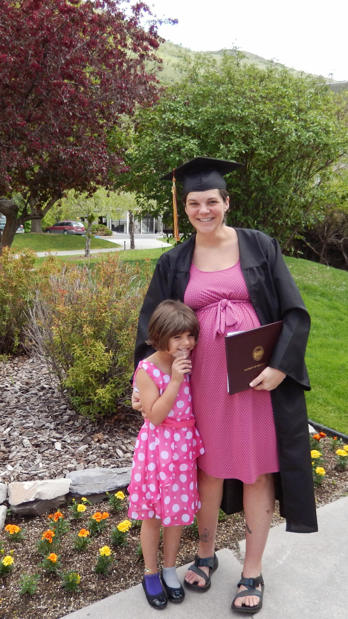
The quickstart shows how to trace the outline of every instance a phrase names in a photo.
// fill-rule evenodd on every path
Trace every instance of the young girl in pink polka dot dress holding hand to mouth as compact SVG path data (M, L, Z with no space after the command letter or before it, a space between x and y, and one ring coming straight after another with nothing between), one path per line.
M147 344L156 352L140 361L134 374L146 418L135 443L129 516L143 521L140 540L146 599L154 608L164 608L168 599L182 602L185 597L176 576L176 557L182 525L192 524L200 508L196 458L204 448L192 414L187 358L197 343L199 325L187 305L166 300L152 314L148 332ZM160 579L161 525L164 564Z

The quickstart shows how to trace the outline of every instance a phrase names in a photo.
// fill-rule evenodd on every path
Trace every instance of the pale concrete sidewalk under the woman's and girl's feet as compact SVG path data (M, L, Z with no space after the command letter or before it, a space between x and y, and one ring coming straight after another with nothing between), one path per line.
M318 509L319 532L286 533L285 524L269 532L263 560L265 600L258 619L340 619L347 615L348 497ZM243 552L243 542L241 543ZM210 591L187 592L182 604L168 604L167 619L238 617L231 612L242 565L231 550L219 550L219 569ZM185 566L177 570L182 581ZM154 619L157 611L142 587L132 587L62 619Z

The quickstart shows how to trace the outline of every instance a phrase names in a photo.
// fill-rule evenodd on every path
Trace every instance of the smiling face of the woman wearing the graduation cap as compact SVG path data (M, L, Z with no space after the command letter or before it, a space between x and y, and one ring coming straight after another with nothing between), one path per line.
M223 201L219 189L190 191L187 194L185 212L197 232L215 232L224 223L224 214L229 207L229 198Z

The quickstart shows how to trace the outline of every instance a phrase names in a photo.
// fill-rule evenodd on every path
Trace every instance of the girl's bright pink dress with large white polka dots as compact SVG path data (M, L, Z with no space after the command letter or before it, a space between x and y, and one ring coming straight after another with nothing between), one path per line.
M171 377L146 359L140 361L162 395ZM134 386L137 378L134 374ZM134 449L128 487L132 519L162 519L165 527L192 524L200 508L197 491L197 456L204 453L192 414L190 378L184 377L176 401L161 425L146 421Z

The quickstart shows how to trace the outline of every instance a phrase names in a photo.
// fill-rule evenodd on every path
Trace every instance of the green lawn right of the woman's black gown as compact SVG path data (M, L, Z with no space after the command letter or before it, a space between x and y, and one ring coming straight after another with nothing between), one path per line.
M348 434L348 273L296 258L286 262L312 318L308 417Z

